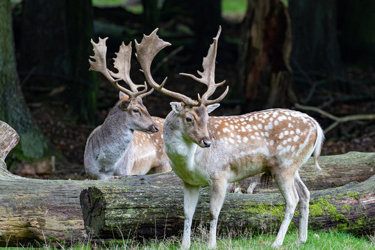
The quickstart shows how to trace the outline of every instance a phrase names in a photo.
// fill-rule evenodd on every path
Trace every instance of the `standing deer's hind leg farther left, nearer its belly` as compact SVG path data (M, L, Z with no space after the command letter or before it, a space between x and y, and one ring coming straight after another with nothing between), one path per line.
M278 185L278 189L281 191L281 194L283 194L286 203L283 222L281 223L280 229L278 230L276 240L274 241L274 243L272 243L272 247L275 248L280 247L281 244L283 244L285 234L288 231L290 222L292 221L294 210L297 207L299 197L294 186L293 174L290 174L289 172L274 173L274 179L276 181L276 184Z

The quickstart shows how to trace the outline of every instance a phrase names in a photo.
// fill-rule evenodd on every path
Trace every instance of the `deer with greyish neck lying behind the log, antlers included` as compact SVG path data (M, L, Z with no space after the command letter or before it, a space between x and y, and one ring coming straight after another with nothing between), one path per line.
M131 81L131 42L122 42L115 53L114 67L117 73L107 69L106 40L91 40L94 56L89 59L90 70L101 72L119 90L119 101L113 106L103 124L88 137L84 153L85 172L90 178L108 179L148 172L172 170L164 151L163 123L160 117L151 117L142 103L153 89L147 92L147 84L136 85ZM119 85L124 81L128 88ZM143 90L138 90L142 88ZM160 131L159 133L157 133Z

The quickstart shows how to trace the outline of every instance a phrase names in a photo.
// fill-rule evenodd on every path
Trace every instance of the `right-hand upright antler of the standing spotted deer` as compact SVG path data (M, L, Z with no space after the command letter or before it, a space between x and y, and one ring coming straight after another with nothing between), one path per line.
M210 105L213 103L218 103L219 101L222 101L226 94L228 93L228 86L225 90L225 92L217 99L215 100L208 100L208 98L213 95L216 88L223 85L225 81L222 81L221 83L215 83L215 63L216 63L216 53L217 53L217 40L219 40L220 33L222 32L222 26L219 26L219 31L217 31L217 35L215 38L213 38L213 44L210 44L210 49L208 49L207 56L203 58L203 72L198 72L199 76L201 78L198 78L197 76L194 76L193 74L185 74L180 73L183 76L189 76L194 81L197 81L199 83L203 83L207 85L207 91L203 94L203 96L199 97L199 102L201 102L203 105Z

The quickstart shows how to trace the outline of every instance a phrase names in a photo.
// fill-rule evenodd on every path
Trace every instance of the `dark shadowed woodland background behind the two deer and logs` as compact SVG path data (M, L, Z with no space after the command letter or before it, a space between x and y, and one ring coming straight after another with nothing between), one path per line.
M222 26L215 78L226 80L229 94L214 115L301 110L326 130L322 154L373 152L374 11L369 0L1 1L0 120L20 135L8 169L87 178L85 142L118 100L101 74L88 71L90 39L108 37L110 61L122 41L140 42L157 27L172 46L154 60L153 76L168 76L168 88L193 98L205 89L178 73L201 70ZM133 56L131 76L141 84L138 69ZM144 105L165 117L170 101L154 92Z

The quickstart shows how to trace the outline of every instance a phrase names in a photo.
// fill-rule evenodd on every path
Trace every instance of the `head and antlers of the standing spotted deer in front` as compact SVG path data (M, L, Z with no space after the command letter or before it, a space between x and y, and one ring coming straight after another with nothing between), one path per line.
M198 78L192 74L181 73L183 76L189 76L199 83L203 83L207 86L207 91L203 94L202 97L198 94L197 100L193 100L190 97L186 97L183 94L177 92L172 92L164 88L167 78L160 85L153 80L151 76L151 62L156 54L163 48L169 46L169 42L164 42L162 39L158 38L156 28L150 35L144 35L142 42L138 44L135 42L135 48L137 49L137 58L140 62L140 65L143 69L144 76L147 79L149 85L154 88L156 91L166 94L169 97L174 97L175 99L180 100L181 102L172 102L172 110L174 115L178 117L176 122L176 127L181 129L181 133L185 139L188 139L196 144L199 147L210 147L210 135L208 134L207 124L208 124L208 113L215 110L219 107L219 101L222 101L226 94L228 93L228 86L225 92L214 100L209 100L213 95L216 88L223 85L225 81L221 83L215 83L215 59L217 53L217 40L221 32L221 27L217 32L216 37L213 39L213 44L210 45L208 54L206 58L203 58L203 72L199 72ZM145 53L147 51L147 53Z

